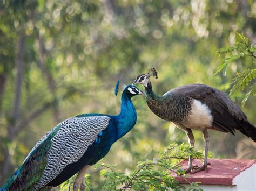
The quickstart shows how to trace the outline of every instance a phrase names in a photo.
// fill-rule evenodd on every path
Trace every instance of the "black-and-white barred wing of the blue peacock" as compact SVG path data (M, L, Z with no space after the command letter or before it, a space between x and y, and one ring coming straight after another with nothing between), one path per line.
M109 121L107 116L86 116L72 117L60 123L56 135L51 139L42 176L33 188L42 188L67 165L78 161Z

